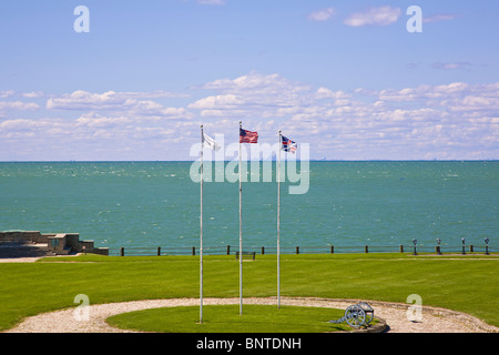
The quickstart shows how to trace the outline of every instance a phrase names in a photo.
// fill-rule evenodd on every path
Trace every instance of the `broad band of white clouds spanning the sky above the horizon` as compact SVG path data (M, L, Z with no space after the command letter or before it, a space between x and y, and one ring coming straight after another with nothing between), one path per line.
M49 116L0 118L0 152L22 145L34 154L57 141L78 151L78 156L85 156L85 150L98 154L99 148L118 155L92 155L98 159L116 159L123 152L136 154L123 159L166 156L159 151L173 154L171 159L189 159L201 123L212 134L226 134L228 144L237 140L243 120L258 131L262 142L274 142L282 129L298 143L310 143L313 158L499 158L499 82L344 91L251 72L191 90L197 100L179 108L163 106L141 93L75 91L52 98L41 113ZM9 113L30 113L22 110L29 103L2 104ZM64 119L51 108L68 110ZM75 113L77 108L83 112ZM41 139L44 144L39 144Z

